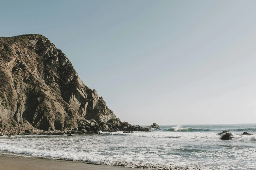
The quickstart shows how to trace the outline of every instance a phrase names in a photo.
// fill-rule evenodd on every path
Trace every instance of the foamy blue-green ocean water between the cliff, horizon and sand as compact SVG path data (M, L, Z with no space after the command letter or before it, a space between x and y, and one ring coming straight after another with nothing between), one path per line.
M151 132L0 136L0 154L145 169L255 170L256 124L162 125ZM241 134L221 140L224 130Z

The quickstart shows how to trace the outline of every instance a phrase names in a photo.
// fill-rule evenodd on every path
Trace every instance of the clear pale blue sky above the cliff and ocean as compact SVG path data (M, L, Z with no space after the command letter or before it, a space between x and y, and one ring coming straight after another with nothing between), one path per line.
M122 121L256 123L254 0L0 4L0 37L46 36Z

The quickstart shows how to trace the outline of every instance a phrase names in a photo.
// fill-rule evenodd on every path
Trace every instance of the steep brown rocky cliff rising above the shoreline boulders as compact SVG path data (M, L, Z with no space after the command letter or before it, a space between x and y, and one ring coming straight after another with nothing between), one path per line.
M120 121L46 37L0 37L0 130L61 130L83 119Z

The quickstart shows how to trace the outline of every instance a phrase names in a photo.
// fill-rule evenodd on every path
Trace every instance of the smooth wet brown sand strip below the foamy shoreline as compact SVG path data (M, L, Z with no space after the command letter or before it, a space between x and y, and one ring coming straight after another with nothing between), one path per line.
M0 155L0 170L131 170L134 168L114 167L61 161L54 159L29 158Z

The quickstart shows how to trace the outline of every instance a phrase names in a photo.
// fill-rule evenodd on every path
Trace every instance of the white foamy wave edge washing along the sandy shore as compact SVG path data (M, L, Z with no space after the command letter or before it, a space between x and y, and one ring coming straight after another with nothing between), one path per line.
M50 157L58 159L66 159L72 161L83 161L86 163L100 164L100 165L109 165L109 166L122 166L129 168L142 168L142 169L155 169L155 170L171 170L181 169L181 170L199 170L200 167L193 167L187 165L170 165L170 164L159 164L152 162L140 162L140 161L125 161L125 160L114 160L111 158L106 158L102 155L86 154L86 153L75 153L75 152L63 152L63 151L45 151L38 149L26 149L26 148L17 148L15 146L0 146L0 150L12 152L15 154L25 154L23 156L37 156L37 157ZM212 169L208 168L207 169Z

